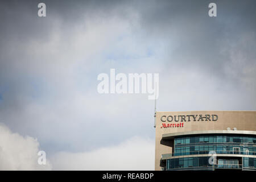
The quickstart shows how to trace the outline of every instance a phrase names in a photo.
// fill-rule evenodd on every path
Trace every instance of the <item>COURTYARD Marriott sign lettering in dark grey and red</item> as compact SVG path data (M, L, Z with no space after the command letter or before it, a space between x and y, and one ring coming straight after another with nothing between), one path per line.
M162 115L162 127L184 127L184 122L191 121L217 121L217 114L192 114L192 115ZM175 123L182 122L182 123Z

